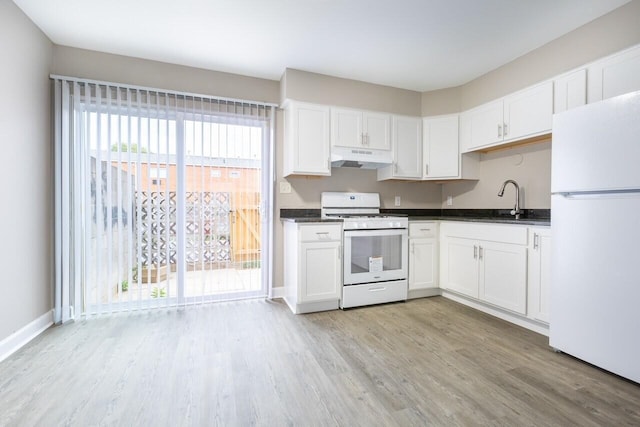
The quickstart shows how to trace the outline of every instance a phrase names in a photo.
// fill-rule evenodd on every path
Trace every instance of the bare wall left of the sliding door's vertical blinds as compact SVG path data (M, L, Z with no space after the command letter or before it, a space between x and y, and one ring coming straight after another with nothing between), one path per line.
M53 307L52 50L13 2L0 1L0 341Z

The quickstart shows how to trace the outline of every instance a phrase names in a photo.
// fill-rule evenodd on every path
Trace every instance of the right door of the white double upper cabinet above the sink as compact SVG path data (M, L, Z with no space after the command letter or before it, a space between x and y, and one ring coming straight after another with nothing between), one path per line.
M505 141L551 132L552 120L552 82L514 93L504 99Z

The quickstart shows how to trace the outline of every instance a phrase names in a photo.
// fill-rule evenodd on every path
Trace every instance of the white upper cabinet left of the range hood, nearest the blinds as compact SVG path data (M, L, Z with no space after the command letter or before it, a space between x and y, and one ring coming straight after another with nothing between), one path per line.
M288 101L283 175L331 175L329 107Z

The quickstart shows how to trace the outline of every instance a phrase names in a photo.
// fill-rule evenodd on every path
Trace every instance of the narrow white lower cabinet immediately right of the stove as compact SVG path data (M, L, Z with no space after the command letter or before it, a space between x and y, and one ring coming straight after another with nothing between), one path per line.
M438 223L409 224L409 298L437 295Z

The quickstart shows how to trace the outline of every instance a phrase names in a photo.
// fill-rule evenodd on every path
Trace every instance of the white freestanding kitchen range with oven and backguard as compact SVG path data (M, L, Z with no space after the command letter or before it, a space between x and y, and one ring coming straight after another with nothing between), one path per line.
M343 219L340 307L406 300L408 218L380 214L377 193L325 192L320 204L323 218Z

